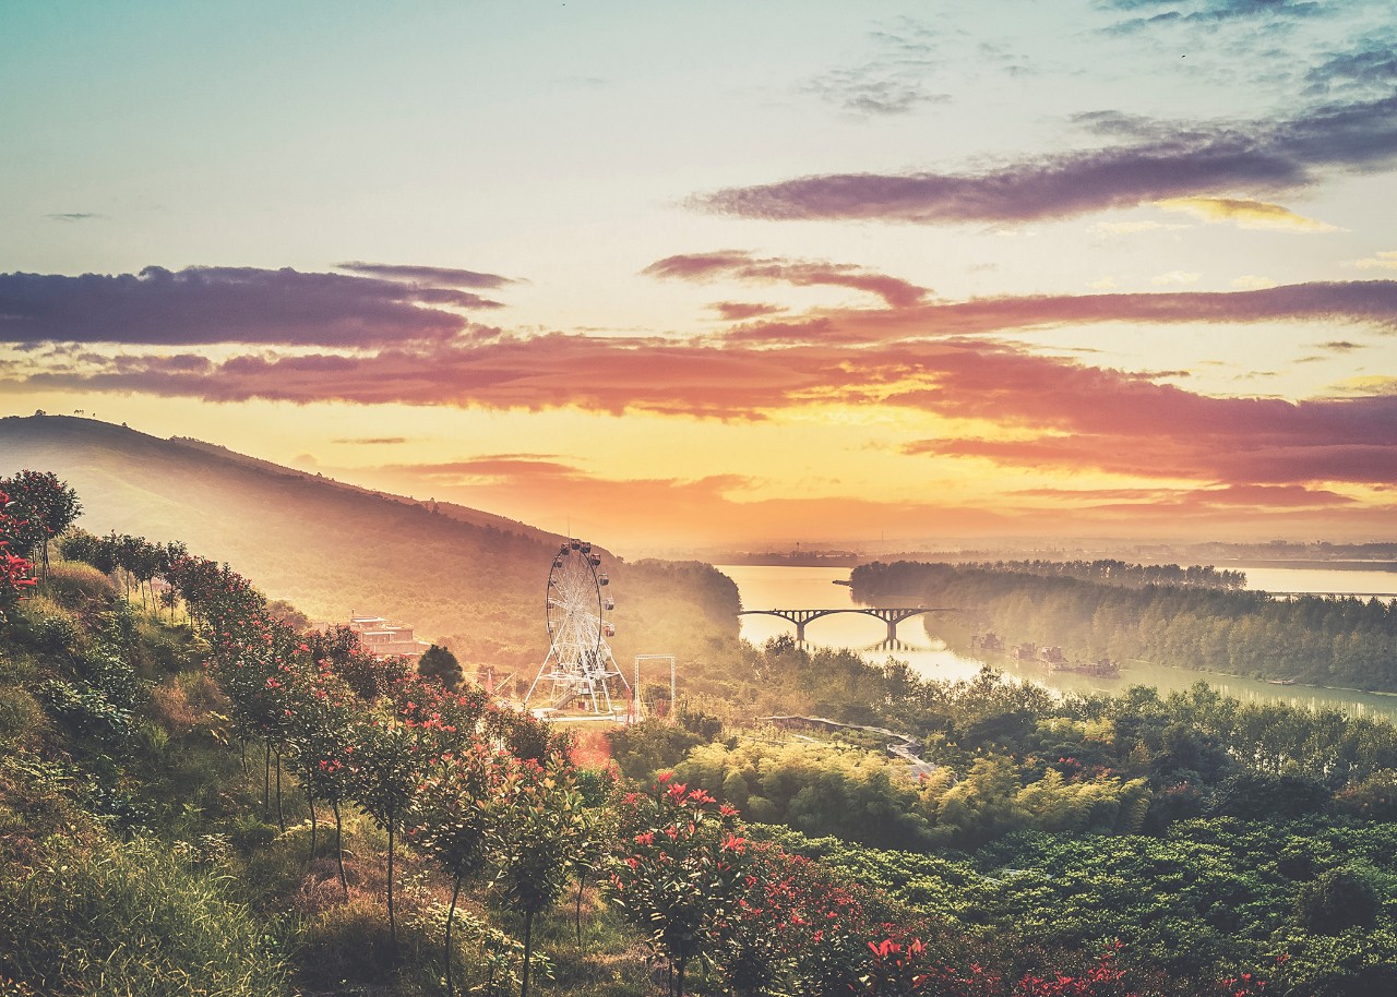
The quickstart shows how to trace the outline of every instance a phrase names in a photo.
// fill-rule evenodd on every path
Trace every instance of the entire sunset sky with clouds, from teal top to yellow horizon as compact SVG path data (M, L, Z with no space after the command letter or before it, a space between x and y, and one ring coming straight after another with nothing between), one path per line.
M1390 0L0 0L0 413L620 553L1391 540Z

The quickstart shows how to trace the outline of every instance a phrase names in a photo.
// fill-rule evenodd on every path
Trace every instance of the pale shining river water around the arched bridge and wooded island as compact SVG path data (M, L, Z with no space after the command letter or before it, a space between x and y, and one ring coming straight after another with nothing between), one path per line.
M787 567L719 564L719 571L738 584L743 609L835 609L855 607L847 585L848 568ZM1277 568L1228 566L1248 573L1249 586L1266 586L1270 592L1397 592L1397 571L1336 571L1310 568ZM742 637L761 644L771 637L795 633L795 627L774 616L743 616ZM923 679L970 679L985 663L979 658L960 655L944 642L928 638L923 619L912 617L898 626L902 644L887 648L882 641L887 627L870 616L841 613L824 616L806 624L806 640L812 645L856 648L870 662L884 662L888 656L905 660ZM930 630L935 631L935 621ZM1350 690L1319 688L1315 686L1273 686L1256 679L1241 679L1221 672L1193 672L1141 662L1125 662L1120 679L1095 679L1073 673L1049 673L1032 662L1017 662L995 655L993 665L1006 674L1034 681L1049 688L1073 693L1118 693L1129 686L1154 686L1161 693L1183 690L1200 679L1210 686L1243 701L1278 700L1312 709L1334 707L1358 716L1380 716L1397 722L1397 695L1380 695Z

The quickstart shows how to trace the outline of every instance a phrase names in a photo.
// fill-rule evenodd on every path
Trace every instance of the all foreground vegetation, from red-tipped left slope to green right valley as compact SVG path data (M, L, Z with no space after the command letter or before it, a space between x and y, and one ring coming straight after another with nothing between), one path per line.
M669 722L574 732L298 631L182 545L159 609L95 566L42 573L28 526L81 503L45 473L3 489L3 997L1397 987L1391 725L777 640L683 674ZM810 707L870 726L752 716Z

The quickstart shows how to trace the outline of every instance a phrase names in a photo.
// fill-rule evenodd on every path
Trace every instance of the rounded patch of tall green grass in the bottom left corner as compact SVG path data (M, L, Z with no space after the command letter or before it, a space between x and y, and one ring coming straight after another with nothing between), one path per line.
M53 997L285 994L278 943L225 878L148 839L54 849L0 882L0 976Z

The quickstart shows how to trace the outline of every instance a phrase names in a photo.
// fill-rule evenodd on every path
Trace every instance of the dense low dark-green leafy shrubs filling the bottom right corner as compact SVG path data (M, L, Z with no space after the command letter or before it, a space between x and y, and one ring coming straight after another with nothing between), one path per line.
M1382 908L1397 874L1391 825L1206 818L1162 838L1018 834L960 856L875 850L785 828L750 834L880 889L901 909L1020 950L1119 940L1127 963L1160 966L1192 993L1239 975L1239 965L1255 979L1284 977L1294 993L1382 993L1368 982L1393 930ZM1355 877L1380 901L1369 927L1336 924L1324 934L1299 922L1298 896L1326 896L1319 882L1352 889Z

